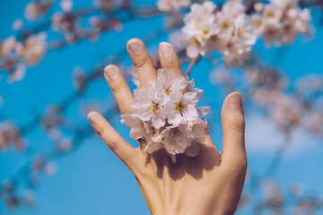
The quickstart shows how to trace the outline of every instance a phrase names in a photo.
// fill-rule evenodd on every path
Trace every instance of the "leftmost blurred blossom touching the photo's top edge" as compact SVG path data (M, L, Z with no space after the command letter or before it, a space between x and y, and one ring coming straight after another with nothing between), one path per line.
M31 1L26 5L24 16L27 20L35 21L48 12L52 0Z

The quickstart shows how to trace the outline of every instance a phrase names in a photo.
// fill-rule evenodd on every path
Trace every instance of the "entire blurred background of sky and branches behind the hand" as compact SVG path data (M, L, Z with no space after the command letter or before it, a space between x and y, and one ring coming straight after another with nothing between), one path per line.
M157 68L159 43L177 48L205 90L199 105L212 107L206 119L220 151L223 99L241 92L249 170L236 214L323 214L323 1L281 1L309 10L309 28L269 45L258 33L239 64L216 50L189 58L181 28L192 2L165 2L0 2L0 214L149 214L135 177L86 119L100 111L136 146L102 72L118 64L135 89L132 38L144 40ZM214 1L217 10L224 3ZM246 15L269 17L258 3L275 1L244 1Z

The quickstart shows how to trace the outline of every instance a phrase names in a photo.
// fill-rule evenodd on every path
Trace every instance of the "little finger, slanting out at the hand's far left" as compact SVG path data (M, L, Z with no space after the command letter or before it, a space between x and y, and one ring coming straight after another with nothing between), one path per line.
M132 170L135 165L135 159L137 159L135 148L126 142L98 112L92 111L88 115L88 119L94 130L107 143L109 149Z

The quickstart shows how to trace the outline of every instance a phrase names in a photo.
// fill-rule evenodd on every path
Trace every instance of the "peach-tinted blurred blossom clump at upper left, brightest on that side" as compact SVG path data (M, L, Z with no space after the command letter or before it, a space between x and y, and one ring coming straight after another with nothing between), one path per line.
M46 52L46 33L41 32L37 35L31 35L19 47L17 51L27 64L36 64Z

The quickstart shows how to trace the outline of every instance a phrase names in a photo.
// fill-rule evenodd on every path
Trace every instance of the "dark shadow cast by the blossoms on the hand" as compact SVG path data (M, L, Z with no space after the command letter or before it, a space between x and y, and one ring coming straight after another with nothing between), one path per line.
M221 164L221 154L215 147L207 146L204 143L199 143L198 148L198 156L192 158L185 154L178 154L176 163L170 161L170 157L165 150L157 150L152 154L148 154L145 166L151 163L153 159L157 167L156 175L159 178L162 178L164 168L167 168L170 178L175 181L186 174L196 179L201 179L204 170L211 171Z

